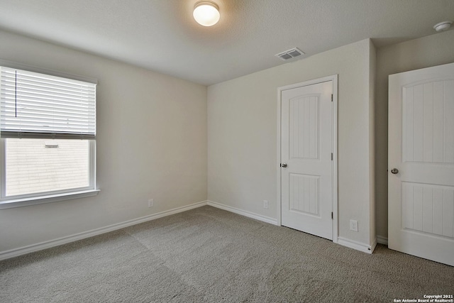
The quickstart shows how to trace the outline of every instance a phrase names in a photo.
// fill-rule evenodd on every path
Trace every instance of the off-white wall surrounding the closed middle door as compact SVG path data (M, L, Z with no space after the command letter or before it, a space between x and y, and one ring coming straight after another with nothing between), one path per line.
M277 219L277 87L338 74L339 236L372 244L374 53L362 40L210 86L208 199Z

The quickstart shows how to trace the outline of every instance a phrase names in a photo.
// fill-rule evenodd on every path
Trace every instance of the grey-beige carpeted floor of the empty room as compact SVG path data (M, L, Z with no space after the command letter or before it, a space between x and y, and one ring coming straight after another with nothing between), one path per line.
M454 268L203 206L0 262L0 302L393 302Z

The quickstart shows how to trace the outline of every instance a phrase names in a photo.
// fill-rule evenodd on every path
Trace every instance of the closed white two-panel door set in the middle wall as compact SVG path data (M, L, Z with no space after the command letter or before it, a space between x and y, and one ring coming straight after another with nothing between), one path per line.
M281 223L333 239L333 82L281 92Z

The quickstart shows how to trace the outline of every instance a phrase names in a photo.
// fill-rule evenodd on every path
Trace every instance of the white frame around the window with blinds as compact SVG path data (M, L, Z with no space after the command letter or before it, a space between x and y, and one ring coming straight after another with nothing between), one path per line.
M17 70L26 70L28 72L38 72L43 75L51 75L55 77L63 77L67 79L74 79L83 82L97 84L96 79L81 77L76 75L69 75L62 72L55 72L53 70L44 70L39 67L32 67L28 65L21 65L15 62L0 60L1 67L9 67ZM96 95L95 95L96 98ZM96 108L95 108L96 112ZM95 119L96 121L96 119ZM0 209L9 209L20 206L29 206L35 204L43 204L50 202L60 202L69 199L79 199L84 197L92 197L100 192L96 189L96 136L94 138L87 138L84 140L89 141L89 186L77 187L71 189L62 189L50 192L38 192L33 194L20 194L15 196L6 197L6 138L1 137L0 133ZM71 140L80 140L72 138Z

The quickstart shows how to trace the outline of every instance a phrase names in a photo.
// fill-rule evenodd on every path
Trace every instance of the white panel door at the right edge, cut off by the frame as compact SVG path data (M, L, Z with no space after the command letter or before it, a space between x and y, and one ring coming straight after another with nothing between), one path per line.
M454 265L454 63L389 76L389 248Z

